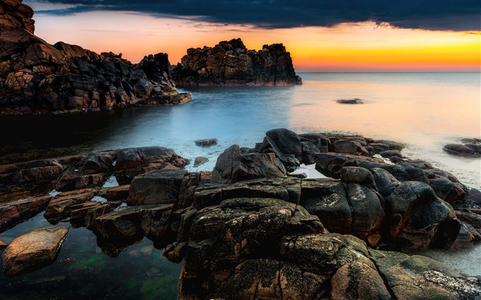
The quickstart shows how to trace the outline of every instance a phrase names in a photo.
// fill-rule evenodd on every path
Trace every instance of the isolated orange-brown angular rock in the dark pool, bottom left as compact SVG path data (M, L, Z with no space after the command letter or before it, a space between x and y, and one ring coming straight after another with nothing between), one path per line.
M5 275L23 275L52 264L67 233L66 227L40 228L13 240L2 255Z

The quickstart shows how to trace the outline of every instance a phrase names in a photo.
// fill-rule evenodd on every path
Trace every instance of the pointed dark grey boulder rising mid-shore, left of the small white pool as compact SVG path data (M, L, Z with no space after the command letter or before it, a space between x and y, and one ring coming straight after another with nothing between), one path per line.
M284 176L282 163L273 153L241 154L237 145L227 148L212 171L213 183L236 183L256 178Z

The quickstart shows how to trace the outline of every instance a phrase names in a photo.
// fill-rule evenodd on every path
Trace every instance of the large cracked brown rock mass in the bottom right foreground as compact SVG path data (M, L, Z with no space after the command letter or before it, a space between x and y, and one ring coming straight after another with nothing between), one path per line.
M368 250L293 203L234 198L199 211L182 299L476 299L481 283L427 257Z

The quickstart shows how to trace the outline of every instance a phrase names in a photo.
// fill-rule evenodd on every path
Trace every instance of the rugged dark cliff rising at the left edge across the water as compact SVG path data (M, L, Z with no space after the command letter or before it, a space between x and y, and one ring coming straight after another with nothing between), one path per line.
M34 35L32 16L21 0L0 0L0 115L190 100L175 89L166 54L133 65L122 54L49 45Z

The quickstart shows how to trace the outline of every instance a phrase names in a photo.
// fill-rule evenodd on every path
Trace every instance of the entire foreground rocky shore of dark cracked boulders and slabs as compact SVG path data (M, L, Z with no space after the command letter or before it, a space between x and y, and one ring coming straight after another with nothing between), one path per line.
M188 172L159 146L1 165L0 227L45 211L60 228L93 231L113 257L145 236L183 261L181 299L481 297L480 279L392 251L481 240L481 193L402 148L281 128L252 149L227 148L212 172ZM287 176L300 163L329 178ZM103 187L111 176L120 186ZM58 249L67 233L51 230L27 235ZM28 238L3 251L8 275L54 263L52 251L29 256Z

